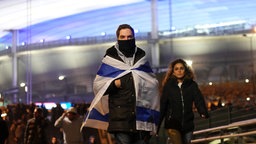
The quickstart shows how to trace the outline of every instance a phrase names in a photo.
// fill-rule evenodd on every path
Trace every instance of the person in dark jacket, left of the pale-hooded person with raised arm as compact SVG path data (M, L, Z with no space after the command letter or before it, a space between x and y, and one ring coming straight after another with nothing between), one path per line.
M34 117L28 120L25 128L24 144L47 144L48 125L49 121L43 116L43 109L35 107Z

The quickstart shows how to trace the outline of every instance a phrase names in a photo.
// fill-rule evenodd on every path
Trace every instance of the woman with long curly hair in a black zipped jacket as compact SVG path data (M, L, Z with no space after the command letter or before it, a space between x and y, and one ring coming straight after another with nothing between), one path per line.
M165 119L164 127L173 144L191 143L194 131L193 104L202 118L209 117L204 97L193 79L194 73L187 63L177 59L169 65L162 81L158 128Z

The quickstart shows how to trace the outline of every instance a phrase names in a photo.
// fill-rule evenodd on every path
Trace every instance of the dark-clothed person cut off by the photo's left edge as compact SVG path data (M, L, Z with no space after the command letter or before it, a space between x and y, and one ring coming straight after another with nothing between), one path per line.
M2 119L2 110L0 109L0 144L5 144L9 136L8 124Z

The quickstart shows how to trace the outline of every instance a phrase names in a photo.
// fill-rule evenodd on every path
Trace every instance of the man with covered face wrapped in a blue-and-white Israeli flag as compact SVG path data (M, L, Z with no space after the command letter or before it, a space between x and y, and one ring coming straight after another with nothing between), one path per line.
M83 126L107 130L118 144L147 144L159 121L158 80L135 45L133 28L122 24L116 35L94 80L95 98Z

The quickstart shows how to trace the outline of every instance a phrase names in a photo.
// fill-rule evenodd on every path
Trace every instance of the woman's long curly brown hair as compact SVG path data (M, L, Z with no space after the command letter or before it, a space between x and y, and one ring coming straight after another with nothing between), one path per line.
M183 59L176 59L174 60L173 62L171 62L168 66L168 70L167 72L165 73L165 76L163 78L163 81L162 81L162 85L161 85L161 92L163 90L163 87L164 85L166 84L167 80L170 78L170 77L173 77L173 69L174 69L174 66L177 64L177 63L181 63L184 68L185 68L185 75L183 77L183 80L184 79L194 79L195 76L194 76L194 73L193 71L191 70L191 68L187 65L186 61L184 61Z

